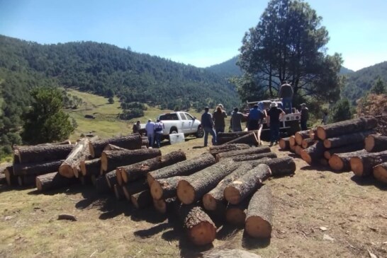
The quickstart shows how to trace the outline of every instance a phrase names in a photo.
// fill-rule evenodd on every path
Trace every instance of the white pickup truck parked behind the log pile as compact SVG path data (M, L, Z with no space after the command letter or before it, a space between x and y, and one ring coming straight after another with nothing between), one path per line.
M164 123L164 138L167 138L169 134L184 134L185 136L194 134L198 138L204 136L200 120L187 112L165 113L159 115L157 119Z

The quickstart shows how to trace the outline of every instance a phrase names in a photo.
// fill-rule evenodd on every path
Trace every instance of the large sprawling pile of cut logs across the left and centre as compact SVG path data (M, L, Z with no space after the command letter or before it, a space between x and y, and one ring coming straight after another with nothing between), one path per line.
M213 242L214 221L245 225L248 235L269 238L273 208L263 182L292 175L296 164L291 157L277 158L267 146L246 144L257 144L255 137L212 146L210 153L191 160L183 151L162 156L159 149L142 148L140 134L20 147L7 178L12 184L20 175L33 177L40 192L67 187L77 178L90 181L97 192L114 193L138 209L154 206L160 213L177 214L196 245Z

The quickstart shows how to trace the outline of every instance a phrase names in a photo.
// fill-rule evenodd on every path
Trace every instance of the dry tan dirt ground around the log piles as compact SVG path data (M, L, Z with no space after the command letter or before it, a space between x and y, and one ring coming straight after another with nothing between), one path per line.
M203 139L163 146L188 158L208 151ZM272 148L278 156L293 155ZM296 158L293 177L267 182L274 195L270 240L243 228L218 228L213 245L195 247L176 218L152 207L136 211L113 195L75 185L48 194L0 186L0 257L200 257L211 248L238 248L262 257L387 257L387 187L352 172L310 167ZM69 213L77 221L58 221Z

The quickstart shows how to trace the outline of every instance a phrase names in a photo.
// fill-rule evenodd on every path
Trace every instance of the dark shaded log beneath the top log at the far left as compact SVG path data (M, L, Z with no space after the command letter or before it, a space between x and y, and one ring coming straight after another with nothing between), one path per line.
M13 175L43 175L57 172L64 160L43 161L40 163L19 163L13 165ZM35 182L34 182L35 183Z

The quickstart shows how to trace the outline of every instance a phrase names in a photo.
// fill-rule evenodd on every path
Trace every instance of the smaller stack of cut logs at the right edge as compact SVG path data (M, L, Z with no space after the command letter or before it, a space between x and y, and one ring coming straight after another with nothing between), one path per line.
M298 131L279 141L309 165L329 165L336 172L353 171L359 177L374 175L387 183L387 136L376 134L377 119L360 117Z

